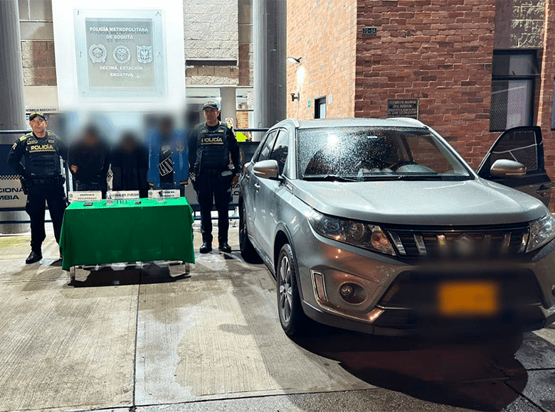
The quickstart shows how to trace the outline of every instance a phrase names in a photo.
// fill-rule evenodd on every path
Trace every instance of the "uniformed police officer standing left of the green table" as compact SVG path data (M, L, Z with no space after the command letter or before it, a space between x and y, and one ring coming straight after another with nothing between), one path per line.
M19 138L14 146L11 146L8 155L8 164L21 176L23 193L27 195L25 210L31 218L31 254L26 259L26 264L32 264L43 258L41 245L46 239L45 202L48 202L54 236L58 244L63 212L67 206L60 156L67 160L68 146L56 134L46 130L48 121L43 113L31 113L29 125L33 131ZM21 163L23 157L25 166Z

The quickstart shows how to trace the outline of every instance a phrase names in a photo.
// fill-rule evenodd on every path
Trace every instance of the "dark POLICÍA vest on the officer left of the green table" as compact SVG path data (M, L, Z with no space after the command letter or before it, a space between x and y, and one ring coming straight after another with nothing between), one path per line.
M25 171L27 177L54 177L62 173L58 139L50 131L38 139L33 133L25 135Z

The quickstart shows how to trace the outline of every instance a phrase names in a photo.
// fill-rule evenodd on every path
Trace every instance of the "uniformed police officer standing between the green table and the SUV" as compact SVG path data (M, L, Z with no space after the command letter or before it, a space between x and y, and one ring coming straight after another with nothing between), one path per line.
M201 207L200 252L212 250L213 204L218 210L218 249L230 252L228 210L231 188L239 180L239 146L233 129L218 121L220 110L216 102L206 102L202 110L206 121L196 126L189 140L189 165L194 170L194 187ZM229 167L230 154L233 169Z

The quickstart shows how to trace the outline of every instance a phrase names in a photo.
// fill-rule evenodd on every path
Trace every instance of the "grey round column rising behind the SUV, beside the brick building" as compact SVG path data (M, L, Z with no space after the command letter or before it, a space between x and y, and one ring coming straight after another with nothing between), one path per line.
M253 2L255 127L270 127L287 116L285 0ZM254 134L260 140L262 134Z

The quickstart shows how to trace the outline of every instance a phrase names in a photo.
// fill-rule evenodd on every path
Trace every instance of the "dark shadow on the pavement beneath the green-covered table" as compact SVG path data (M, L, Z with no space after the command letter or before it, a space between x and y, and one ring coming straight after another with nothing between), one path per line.
M189 273L171 273L169 264L158 266L154 263L137 266L129 264L125 267L114 269L112 266L102 266L98 269L90 270L90 266L85 266L88 271L85 280L83 271L71 286L75 288L98 287L98 286L120 286L120 285L139 285L150 283L171 283L182 279L190 278ZM95 267L95 266L93 266Z

